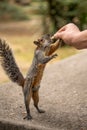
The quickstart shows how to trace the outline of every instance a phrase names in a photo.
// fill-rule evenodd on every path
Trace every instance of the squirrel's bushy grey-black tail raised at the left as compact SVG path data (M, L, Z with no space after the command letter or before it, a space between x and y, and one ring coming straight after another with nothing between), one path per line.
M24 77L21 74L12 51L5 40L0 39L0 62L8 77L18 85L24 85Z

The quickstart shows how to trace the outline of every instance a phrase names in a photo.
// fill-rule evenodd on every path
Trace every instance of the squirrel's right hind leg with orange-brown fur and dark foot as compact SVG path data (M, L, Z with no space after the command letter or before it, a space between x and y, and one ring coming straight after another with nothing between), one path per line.
M39 113L44 113L45 111L38 107L38 103L39 103L39 90L32 92L32 99L34 101L34 106L37 109L37 111Z

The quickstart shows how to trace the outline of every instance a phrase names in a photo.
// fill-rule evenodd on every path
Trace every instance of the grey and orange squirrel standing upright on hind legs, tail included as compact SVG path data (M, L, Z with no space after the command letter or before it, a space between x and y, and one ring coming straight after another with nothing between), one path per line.
M45 112L38 106L40 83L46 63L57 56L57 54L53 53L59 48L60 41L56 40L56 42L54 42L51 35L46 34L37 41L34 41L34 44L36 45L34 58L26 77L24 78L16 64L13 52L8 43L5 40L0 39L1 65L11 81L17 83L19 86L22 86L27 113L24 119L27 120L32 119L29 108L31 98L34 101L34 106L37 111L39 113Z

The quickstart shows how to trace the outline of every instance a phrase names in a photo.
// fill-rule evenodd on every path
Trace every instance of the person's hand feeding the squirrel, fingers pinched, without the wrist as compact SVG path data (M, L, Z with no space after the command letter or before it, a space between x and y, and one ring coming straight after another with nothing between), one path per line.
M66 44L75 46L74 38L76 37L76 35L78 35L78 33L80 33L79 28L75 24L69 23L69 24L63 26L60 30L58 30L54 34L54 38L56 38L56 39L60 38Z

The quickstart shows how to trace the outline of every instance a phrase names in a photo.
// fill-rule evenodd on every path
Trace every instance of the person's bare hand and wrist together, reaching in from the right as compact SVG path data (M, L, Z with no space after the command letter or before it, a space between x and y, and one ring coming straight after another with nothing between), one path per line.
M73 46L76 49L87 48L87 30L80 31L73 23L69 23L60 28L54 34L54 38L62 39L67 45Z

